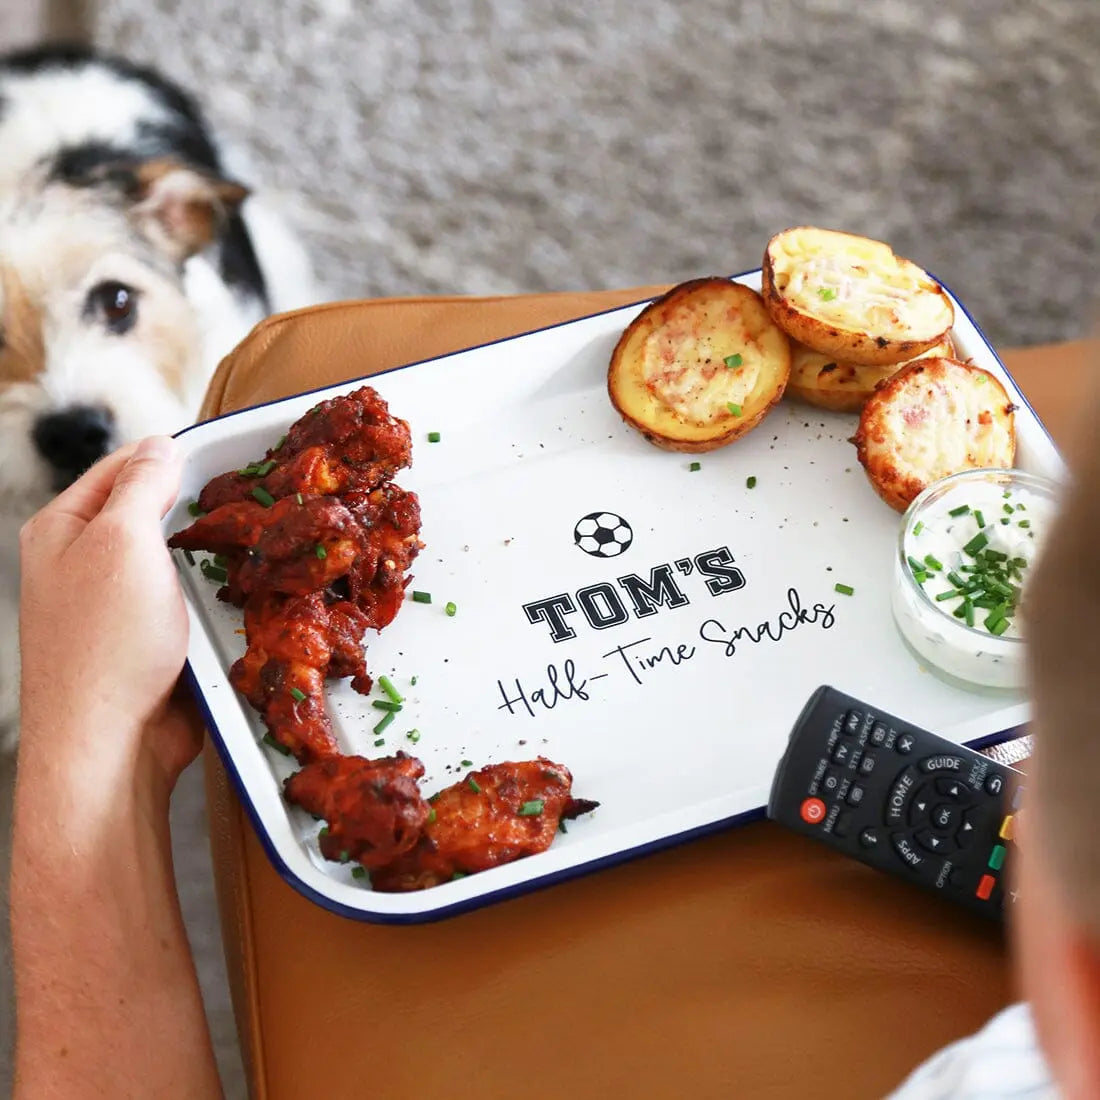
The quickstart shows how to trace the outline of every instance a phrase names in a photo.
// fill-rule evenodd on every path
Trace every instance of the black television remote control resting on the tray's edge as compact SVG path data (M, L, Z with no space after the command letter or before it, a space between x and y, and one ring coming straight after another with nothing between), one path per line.
M1000 919L1023 776L818 688L791 732L768 816Z

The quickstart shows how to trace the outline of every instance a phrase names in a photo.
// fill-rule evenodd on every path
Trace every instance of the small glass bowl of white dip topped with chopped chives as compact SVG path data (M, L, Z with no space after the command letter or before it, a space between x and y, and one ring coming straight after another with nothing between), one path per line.
M968 688L1023 686L1020 594L1057 493L1055 482L1022 470L967 470L909 506L891 609L909 648L942 678Z

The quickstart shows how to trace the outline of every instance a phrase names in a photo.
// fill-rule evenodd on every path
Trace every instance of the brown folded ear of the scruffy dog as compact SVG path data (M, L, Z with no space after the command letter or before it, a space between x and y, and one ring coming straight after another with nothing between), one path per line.
M201 252L249 189L170 157L128 168L127 190L142 231L174 260Z

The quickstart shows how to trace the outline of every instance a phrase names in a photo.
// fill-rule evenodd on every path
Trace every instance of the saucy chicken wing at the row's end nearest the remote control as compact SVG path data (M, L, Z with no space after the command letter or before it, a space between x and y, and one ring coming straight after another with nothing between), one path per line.
M573 777L546 757L495 763L429 800L416 846L371 873L375 890L425 890L550 847L562 817L598 803L571 796Z

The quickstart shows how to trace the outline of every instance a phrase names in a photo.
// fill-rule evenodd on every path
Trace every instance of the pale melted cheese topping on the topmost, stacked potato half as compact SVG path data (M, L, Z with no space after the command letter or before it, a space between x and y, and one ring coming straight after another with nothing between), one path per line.
M783 297L835 328L928 340L954 320L942 287L879 241L794 230L781 234L769 251Z

